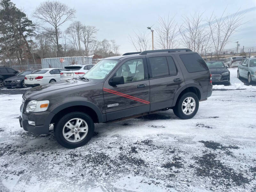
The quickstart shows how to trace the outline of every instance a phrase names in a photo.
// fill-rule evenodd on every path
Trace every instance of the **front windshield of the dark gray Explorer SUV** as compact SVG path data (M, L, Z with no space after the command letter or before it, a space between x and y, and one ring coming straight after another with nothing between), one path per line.
M104 79L118 62L119 60L101 60L83 77L88 79Z

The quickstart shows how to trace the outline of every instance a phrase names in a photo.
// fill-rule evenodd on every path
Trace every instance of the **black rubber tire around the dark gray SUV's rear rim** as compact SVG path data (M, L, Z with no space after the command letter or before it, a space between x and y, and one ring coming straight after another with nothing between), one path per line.
M195 107L194 111L193 111L191 114L189 114L189 115L185 114L185 113L182 111L182 103L183 103L183 101L184 101L186 98L188 98L188 97L192 97L192 98L195 100L195 102L196 102L196 107ZM184 94L179 98L179 100L176 102L176 105L175 105L175 107L173 108L173 112L174 112L174 114L175 114L177 117L179 117L179 118L181 118L181 119L191 119L192 117L194 117L194 116L196 115L196 113L197 113L197 111L198 111L198 108L199 108L199 100L198 100L197 95L196 95L195 93L193 93L193 92L187 92L187 93L184 93Z

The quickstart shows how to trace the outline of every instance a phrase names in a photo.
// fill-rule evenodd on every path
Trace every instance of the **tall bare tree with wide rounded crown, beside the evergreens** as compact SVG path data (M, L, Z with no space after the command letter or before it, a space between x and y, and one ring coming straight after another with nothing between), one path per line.
M52 25L55 34L57 57L60 56L59 47L59 34L58 28L66 21L75 18L75 10L69 8L66 4L58 1L45 1L36 8L33 13L33 17L41 21L41 29L45 30L43 27L44 23L49 23Z

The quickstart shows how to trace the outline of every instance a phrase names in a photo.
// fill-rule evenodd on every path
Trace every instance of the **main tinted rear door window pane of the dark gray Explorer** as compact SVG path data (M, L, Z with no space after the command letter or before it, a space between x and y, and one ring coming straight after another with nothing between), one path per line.
M151 78L169 76L169 69L168 69L168 64L165 56L149 57L148 60L149 60L151 72L152 72Z

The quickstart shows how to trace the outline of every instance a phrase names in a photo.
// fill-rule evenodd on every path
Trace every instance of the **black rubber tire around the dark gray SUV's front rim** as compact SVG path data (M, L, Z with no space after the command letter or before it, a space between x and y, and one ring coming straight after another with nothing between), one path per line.
M84 137L84 139L78 141L78 142L70 142L68 140L66 140L63 136L63 127L64 125L71 119L74 118L80 118L83 119L86 124L88 125L88 132L87 135ZM65 148L77 148L77 147L81 147L83 145L85 145L91 138L94 132L94 123L92 121L92 118L82 112L72 112L72 113L68 113L67 115L63 116L59 122L56 124L56 127L54 127L54 135L56 140L58 141L58 143L65 147Z

